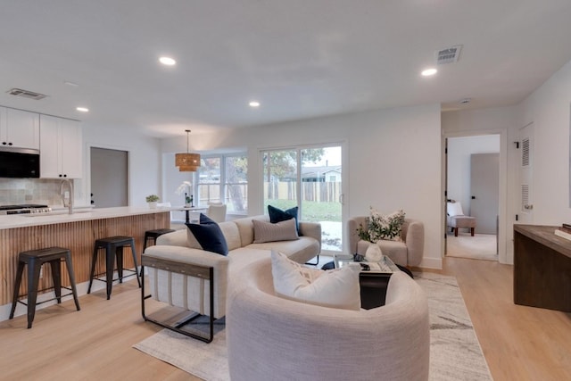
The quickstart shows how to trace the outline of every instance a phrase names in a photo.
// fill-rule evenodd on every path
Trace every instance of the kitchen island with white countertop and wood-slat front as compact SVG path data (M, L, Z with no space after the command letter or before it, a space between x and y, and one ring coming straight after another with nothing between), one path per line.
M18 253L50 246L70 249L76 284L89 281L89 269L95 239L106 236L132 236L135 238L138 263L143 250L146 230L169 228L170 209L145 207L119 207L76 211L66 210L37 215L0 216L0 306L12 303ZM104 255L99 256L96 273L104 272ZM124 256L125 267L133 268L130 255ZM45 266L39 289L52 286L49 266ZM62 284L69 286L67 271L62 272ZM26 280L22 279L21 294L26 293ZM1 315L4 315L2 313ZM7 316L0 316L0 320Z

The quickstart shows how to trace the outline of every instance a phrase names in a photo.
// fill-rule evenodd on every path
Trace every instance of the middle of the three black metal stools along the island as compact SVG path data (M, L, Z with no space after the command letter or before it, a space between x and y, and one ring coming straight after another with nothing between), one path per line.
M107 300L111 298L111 291L113 286L113 281L119 280L119 283L123 283L123 247L130 246L131 253L133 254L133 263L135 264L135 270L125 269L125 271L133 272L125 277L137 277L137 283L139 287L141 286L141 280L138 276L137 267L137 253L135 252L135 239L132 236L109 236L106 238L99 238L95 240L95 245L93 248L93 259L91 261L91 275L89 277L89 286L87 287L87 294L91 293L91 285L93 280L101 280L107 283ZM105 272L101 274L95 274L95 264L97 262L97 253L99 249L105 249ZM115 269L115 258L117 259L117 275L116 279L113 279L113 271ZM105 274L105 279L99 276Z

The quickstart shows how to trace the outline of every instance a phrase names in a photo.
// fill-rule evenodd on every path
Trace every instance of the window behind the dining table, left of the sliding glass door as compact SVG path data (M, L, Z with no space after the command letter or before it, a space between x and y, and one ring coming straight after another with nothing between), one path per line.
M228 212L247 214L248 158L244 153L203 157L195 176L195 205L226 203Z

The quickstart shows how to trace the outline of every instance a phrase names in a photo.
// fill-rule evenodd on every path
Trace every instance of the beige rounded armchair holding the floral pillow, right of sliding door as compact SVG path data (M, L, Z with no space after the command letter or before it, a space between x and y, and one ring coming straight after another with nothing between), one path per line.
M358 229L365 225L367 217L353 217L347 221L347 233L349 236L349 251L352 254L365 255L369 244L374 244L360 239ZM377 242L383 254L388 256L394 263L401 266L418 266L422 261L425 247L425 226L417 219L405 219L402 225L401 241L381 240Z

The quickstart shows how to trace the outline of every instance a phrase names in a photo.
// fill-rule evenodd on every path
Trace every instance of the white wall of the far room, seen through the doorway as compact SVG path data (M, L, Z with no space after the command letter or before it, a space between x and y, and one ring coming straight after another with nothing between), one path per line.
M473 153L499 153L500 135L450 137L448 139L448 198L470 211L470 160Z

